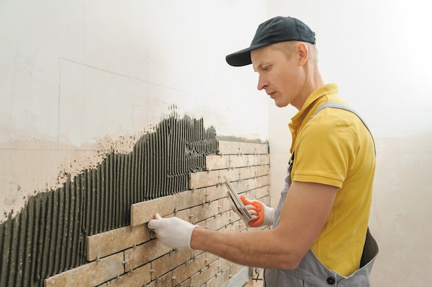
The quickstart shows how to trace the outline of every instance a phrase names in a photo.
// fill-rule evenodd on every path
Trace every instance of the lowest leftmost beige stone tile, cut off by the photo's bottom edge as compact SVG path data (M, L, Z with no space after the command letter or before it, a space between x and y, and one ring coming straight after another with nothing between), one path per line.
M123 274L123 260L123 253L117 253L45 279L44 286L97 286Z

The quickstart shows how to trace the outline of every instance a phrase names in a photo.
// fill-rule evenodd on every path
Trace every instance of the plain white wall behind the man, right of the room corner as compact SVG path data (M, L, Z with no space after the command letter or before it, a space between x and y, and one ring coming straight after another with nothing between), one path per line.
M320 70L366 120L377 146L372 286L431 286L432 19L426 1L268 1L268 18L315 32ZM294 108L269 105L273 192L282 190ZM281 137L281 135L283 135ZM282 160L280 160L282 159Z

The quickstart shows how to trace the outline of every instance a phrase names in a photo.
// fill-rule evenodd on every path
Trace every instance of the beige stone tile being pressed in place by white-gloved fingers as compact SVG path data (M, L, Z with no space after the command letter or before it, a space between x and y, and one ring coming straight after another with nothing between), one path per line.
M159 197L148 201L142 201L130 206L130 225L137 226L145 224L153 219L156 212L164 217L173 213L175 208L173 195Z

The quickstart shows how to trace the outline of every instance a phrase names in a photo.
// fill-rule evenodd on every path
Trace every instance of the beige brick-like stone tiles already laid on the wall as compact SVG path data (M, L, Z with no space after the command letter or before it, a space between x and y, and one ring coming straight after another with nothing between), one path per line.
M206 168L190 175L185 192L133 204L130 226L88 237L88 264L46 279L45 286L223 286L244 266L200 250L168 248L147 227L159 212L221 232L251 230L231 210L223 182L226 177L237 192L268 204L268 145L219 141L219 155L206 157Z

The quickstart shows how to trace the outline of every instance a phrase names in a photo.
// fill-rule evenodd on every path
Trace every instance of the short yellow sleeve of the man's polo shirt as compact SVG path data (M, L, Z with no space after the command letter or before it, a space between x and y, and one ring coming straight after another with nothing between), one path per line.
M359 146L356 118L346 110L326 108L309 120L295 142L293 181L342 188Z

